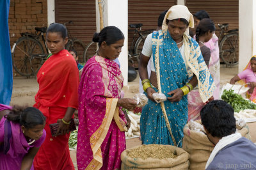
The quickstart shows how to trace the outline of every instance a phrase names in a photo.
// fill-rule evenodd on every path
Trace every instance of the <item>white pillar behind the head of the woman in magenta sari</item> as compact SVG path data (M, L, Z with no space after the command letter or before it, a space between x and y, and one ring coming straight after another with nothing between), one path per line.
M102 0L102 10L104 16L104 27L116 26L125 36L124 47L118 60L120 61L121 71L124 77L124 86L128 84L128 0ZM99 32L99 6L96 4L97 31Z

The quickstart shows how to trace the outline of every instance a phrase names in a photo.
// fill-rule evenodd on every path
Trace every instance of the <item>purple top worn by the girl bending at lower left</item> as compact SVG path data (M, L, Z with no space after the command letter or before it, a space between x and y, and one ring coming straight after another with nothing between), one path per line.
M4 121L6 118L2 118L0 121L0 142L4 141ZM32 144L28 144L19 123L13 123L11 121L12 137L10 138L10 149L6 153L0 152L0 169L12 170L20 169L22 159L28 153L30 148L40 147L44 143L46 132L44 130L42 137L36 140ZM31 167L33 168L33 165Z

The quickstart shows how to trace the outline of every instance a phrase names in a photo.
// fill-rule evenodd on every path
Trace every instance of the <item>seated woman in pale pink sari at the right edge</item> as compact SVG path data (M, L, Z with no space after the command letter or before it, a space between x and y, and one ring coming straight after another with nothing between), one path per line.
M235 84L237 81L241 85L248 84L250 89L246 93L246 98L256 103L256 55L252 56L243 72L238 73L230 80L230 84Z

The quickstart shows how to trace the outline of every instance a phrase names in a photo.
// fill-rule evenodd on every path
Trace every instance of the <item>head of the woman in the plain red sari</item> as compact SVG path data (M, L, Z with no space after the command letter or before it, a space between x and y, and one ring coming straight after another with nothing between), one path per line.
M67 29L63 24L53 23L46 31L46 45L52 54L57 54L65 49L68 42Z

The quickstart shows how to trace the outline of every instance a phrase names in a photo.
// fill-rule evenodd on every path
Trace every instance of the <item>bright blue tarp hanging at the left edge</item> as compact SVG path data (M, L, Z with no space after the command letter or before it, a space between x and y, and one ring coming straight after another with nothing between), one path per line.
M9 105L12 97L12 54L8 15L10 0L0 0L0 104Z

